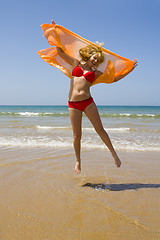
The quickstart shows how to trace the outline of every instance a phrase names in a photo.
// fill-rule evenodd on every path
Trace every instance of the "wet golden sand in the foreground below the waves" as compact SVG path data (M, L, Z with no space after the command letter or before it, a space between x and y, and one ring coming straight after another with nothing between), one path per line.
M0 239L160 239L159 152L2 149Z

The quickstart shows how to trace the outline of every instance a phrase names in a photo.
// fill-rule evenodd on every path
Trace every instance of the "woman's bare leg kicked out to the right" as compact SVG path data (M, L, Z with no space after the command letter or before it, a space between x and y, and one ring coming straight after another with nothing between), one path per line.
M109 148L110 152L112 153L112 156L115 160L115 164L117 167L121 166L121 161L119 157L116 154L116 151L114 150L114 147L111 143L111 140L106 133L106 131L103 128L98 109L96 107L96 104L93 102L85 109L85 114L88 117L88 119L91 121L93 127L95 128L96 132L101 137L102 141L105 143L105 145Z

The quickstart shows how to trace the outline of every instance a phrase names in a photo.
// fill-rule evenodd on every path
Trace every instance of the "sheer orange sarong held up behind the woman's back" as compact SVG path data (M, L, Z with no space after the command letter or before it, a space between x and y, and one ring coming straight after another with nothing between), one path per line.
M72 66L58 55L56 46L61 47L66 54L80 60L79 49L88 44L96 44L59 25L43 24L42 30L48 43L54 47L38 51L39 56L45 62L60 69L65 75L71 78ZM113 83L115 76L125 75L134 66L134 61L121 57L105 48L102 48L102 50L104 62L98 66L97 70L103 74L98 77L92 85L97 83Z

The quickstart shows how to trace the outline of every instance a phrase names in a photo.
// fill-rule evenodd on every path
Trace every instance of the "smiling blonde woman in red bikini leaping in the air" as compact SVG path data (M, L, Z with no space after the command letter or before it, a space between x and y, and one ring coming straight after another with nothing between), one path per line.
M82 113L84 112L91 121L96 132L101 137L104 144L110 150L117 167L121 166L121 161L110 141L110 138L103 128L98 109L90 94L90 87L102 72L97 71L96 68L104 61L104 56L100 46L88 45L79 50L82 61L72 58L67 55L61 48L57 47L58 54L67 61L72 67L72 78L70 84L70 91L68 97L69 116L73 129L74 150L76 154L75 172L81 172L81 134L82 134ZM137 61L134 60L134 67L137 66ZM131 71L132 71L131 70ZM130 72L131 72L130 71ZM127 73L128 74L128 73ZM127 75L126 74L126 75ZM119 76L114 81L119 81L123 76Z

